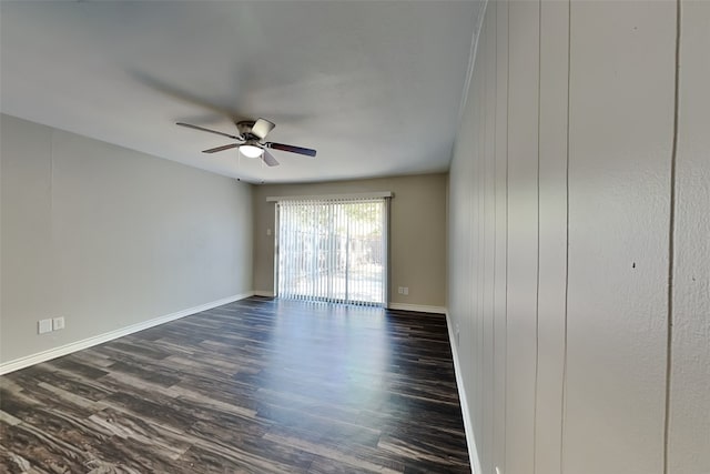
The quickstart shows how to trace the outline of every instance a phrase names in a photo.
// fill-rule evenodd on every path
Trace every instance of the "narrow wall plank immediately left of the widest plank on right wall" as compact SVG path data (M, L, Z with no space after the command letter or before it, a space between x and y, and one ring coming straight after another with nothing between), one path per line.
M535 472L560 474L567 279L569 2L540 3L539 284Z

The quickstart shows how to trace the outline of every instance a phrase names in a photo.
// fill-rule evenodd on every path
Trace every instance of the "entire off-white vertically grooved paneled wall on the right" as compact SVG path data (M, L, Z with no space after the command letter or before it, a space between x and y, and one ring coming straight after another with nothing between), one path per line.
M489 1L449 175L475 470L710 473L708 4L676 127L678 3Z

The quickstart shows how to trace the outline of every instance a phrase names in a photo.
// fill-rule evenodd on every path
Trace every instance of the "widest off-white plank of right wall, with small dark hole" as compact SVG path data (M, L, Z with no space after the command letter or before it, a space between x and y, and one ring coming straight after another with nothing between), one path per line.
M571 2L567 473L662 472L673 2Z

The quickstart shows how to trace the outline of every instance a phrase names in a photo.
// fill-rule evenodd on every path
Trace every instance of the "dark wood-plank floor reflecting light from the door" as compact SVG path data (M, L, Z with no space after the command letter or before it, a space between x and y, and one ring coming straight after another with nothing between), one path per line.
M252 297L0 377L0 472L470 472L442 315Z

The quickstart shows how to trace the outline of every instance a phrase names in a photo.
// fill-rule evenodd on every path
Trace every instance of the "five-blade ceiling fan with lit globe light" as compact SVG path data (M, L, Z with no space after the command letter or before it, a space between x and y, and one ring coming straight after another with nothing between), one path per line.
M203 153L216 153L217 151L231 150L239 148L240 153L248 158L261 158L268 167L277 167L278 162L267 151L267 149L290 151L292 153L305 154L306 157L315 157L315 150L310 148L294 147L292 144L275 143L264 141L268 132L274 130L275 123L270 122L266 119L257 119L256 121L244 120L236 122L236 129L239 135L232 135L216 130L205 129L204 127L192 125L190 123L178 122L180 127L186 127L189 129L201 130L203 132L216 133L217 135L226 137L232 140L236 140L237 143L225 144L222 147L211 148L203 150Z

